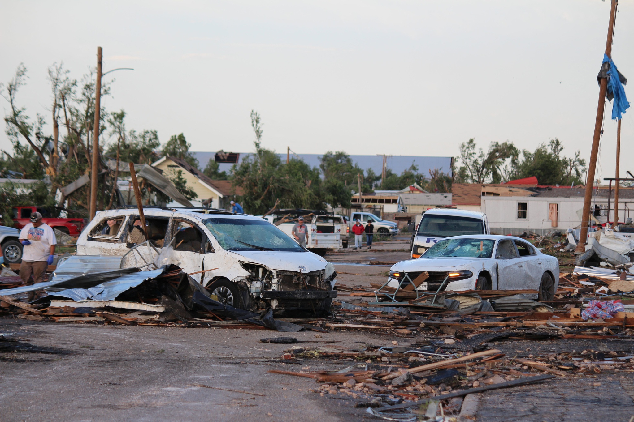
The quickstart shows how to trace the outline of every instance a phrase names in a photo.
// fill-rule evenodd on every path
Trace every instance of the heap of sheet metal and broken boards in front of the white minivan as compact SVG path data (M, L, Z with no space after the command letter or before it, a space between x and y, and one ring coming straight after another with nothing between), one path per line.
M32 303L13 297L32 291L42 292L42 297ZM153 271L126 268L0 290L0 313L3 311L36 321L304 329L275 320L271 309L257 314L221 304L174 264Z

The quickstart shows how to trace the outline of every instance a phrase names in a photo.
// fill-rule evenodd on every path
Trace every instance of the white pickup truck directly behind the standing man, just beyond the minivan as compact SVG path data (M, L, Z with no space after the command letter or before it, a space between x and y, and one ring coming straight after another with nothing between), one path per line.
M283 218L283 216L288 215L288 213L284 213L285 210L280 210L277 214L271 214L268 216L264 216L263 218L273 224L278 223L278 221ZM290 215L290 217L294 218L293 221L289 221L287 223L281 223L278 225L278 228L284 233L287 233L290 237L293 237L293 227L295 223L297 223L297 218L299 215ZM306 248L318 254L320 256L324 256L328 249L336 251L341 247L347 247L348 240L348 225L346 224L346 220L343 216L337 214L307 214L304 217L304 224L309 227L310 235L306 239Z

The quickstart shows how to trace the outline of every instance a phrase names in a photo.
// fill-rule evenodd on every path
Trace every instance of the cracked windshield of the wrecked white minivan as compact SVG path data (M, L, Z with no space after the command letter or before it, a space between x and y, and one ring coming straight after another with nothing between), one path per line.
M265 220L207 218L204 223L225 251L304 252L297 242Z

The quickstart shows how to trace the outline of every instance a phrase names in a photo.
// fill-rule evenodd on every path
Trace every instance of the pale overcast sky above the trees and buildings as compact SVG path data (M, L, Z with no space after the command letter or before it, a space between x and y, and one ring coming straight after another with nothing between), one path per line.
M558 137L587 159L609 11L601 0L1 1L0 82L23 62L18 102L48 116L46 68L63 61L79 78L101 46L104 71L134 68L107 75L102 104L162 142L183 132L194 151L252 151L256 109L278 152L456 156L471 137L531 150ZM634 0L619 2L612 58L634 80ZM600 177L614 173L611 108ZM633 117L621 169L634 172Z

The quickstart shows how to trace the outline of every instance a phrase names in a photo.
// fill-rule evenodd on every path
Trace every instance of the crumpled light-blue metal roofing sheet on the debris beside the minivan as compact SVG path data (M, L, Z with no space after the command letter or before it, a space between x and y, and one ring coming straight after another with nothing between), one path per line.
M132 289L146 280L156 278L162 272L162 269L139 271L138 273L120 276L114 280L110 280L109 282L89 287L88 289L66 289L61 290L60 292L50 292L49 294L68 297L74 301L85 301L86 299L92 299L94 301L113 301L126 290Z

